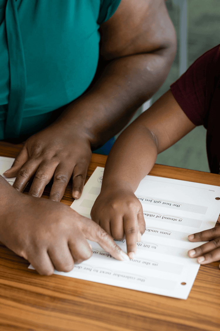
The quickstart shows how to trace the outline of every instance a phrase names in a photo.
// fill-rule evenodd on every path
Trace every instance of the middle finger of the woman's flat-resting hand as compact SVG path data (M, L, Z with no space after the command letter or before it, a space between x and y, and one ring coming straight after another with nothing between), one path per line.
M53 177L54 171L58 165L56 160L42 162L34 176L29 195L40 198L44 192L45 186Z

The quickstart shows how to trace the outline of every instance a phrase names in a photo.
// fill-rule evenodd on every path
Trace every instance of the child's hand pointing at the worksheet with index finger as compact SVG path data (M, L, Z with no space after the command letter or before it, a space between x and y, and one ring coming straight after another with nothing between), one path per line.
M136 243L145 231L145 221L141 203L132 191L101 192L92 207L91 218L114 239L122 240L125 235L128 256L134 257Z

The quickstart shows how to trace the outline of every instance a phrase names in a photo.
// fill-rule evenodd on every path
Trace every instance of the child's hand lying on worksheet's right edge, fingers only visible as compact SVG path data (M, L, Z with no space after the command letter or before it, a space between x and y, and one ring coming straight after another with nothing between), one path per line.
M188 239L193 242L210 240L208 243L190 250L188 252L190 258L197 258L197 262L200 264L220 260L220 226L191 234Z

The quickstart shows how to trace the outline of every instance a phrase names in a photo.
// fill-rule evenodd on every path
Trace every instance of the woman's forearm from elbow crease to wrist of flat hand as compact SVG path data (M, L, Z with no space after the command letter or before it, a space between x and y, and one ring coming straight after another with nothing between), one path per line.
M58 121L86 132L96 148L118 133L158 90L170 65L169 50L113 60Z

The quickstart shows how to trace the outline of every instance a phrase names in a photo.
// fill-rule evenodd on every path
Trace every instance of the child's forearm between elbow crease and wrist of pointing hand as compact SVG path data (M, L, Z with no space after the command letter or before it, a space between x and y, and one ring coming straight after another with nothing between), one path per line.
M141 179L157 158L154 135L144 126L132 123L113 145L102 182L102 189L121 188L136 191Z

